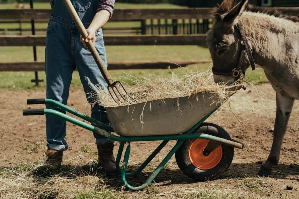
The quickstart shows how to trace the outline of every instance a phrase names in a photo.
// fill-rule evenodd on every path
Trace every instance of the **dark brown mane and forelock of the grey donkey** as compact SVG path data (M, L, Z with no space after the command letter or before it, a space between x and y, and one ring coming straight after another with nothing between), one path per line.
M224 3L221 5L218 4L218 6L216 8L214 8L212 11L214 19L216 19L217 21L221 20L222 19L221 16L225 13L228 13L234 7L234 5L235 4L233 4L233 3ZM291 16L291 15L284 14L275 8L269 9L269 8L265 8L265 7L259 7L259 6L247 4L244 11L252 12L252 13L267 14L269 16L274 16L274 17L281 18L281 19L287 19L287 20L290 20L295 23L299 22L298 16Z

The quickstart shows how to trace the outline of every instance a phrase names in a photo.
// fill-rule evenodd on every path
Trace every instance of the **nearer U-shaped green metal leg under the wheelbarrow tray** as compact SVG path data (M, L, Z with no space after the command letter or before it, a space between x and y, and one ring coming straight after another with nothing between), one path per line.
M170 158L173 156L173 154L179 149L179 147L183 143L184 143L184 140L179 140L176 143L176 145L171 149L171 151L167 154L167 156L164 158L164 160L162 160L162 162L158 165L158 167L155 169L155 171L152 172L152 174L149 176L149 178L147 178L145 183L142 184L141 186L131 186L126 180L126 169L127 169L130 150L131 150L131 146L129 143L128 147L126 148L126 152L125 152L124 159L123 159L123 166L122 166L121 173L120 173L121 181L128 189L131 189L133 191L138 191L138 190L144 189L155 179L155 177L158 175L158 173L163 169L163 167L166 165L166 163L170 160ZM162 143L161 143L161 145L162 145Z

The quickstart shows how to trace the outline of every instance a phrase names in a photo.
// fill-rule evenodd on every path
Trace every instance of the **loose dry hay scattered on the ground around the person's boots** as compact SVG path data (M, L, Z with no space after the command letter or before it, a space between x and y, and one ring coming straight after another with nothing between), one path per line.
M39 165L0 168L0 198L122 198L108 189L94 164L36 172Z

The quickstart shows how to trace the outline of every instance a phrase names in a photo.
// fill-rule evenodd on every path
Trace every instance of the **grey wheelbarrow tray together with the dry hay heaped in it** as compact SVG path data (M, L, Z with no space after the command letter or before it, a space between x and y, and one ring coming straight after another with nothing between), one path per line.
M184 133L247 84L245 80L230 86L216 84L211 71L131 76L130 80L135 83L126 88L136 100L130 100L132 104L118 104L105 91L95 94L95 103L106 107L112 128L121 136Z

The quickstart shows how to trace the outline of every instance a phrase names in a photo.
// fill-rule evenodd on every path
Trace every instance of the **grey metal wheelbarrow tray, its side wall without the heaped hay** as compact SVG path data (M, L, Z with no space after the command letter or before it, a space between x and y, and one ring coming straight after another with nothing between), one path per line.
M132 137L184 133L219 106L216 94L198 93L106 110L115 132Z

